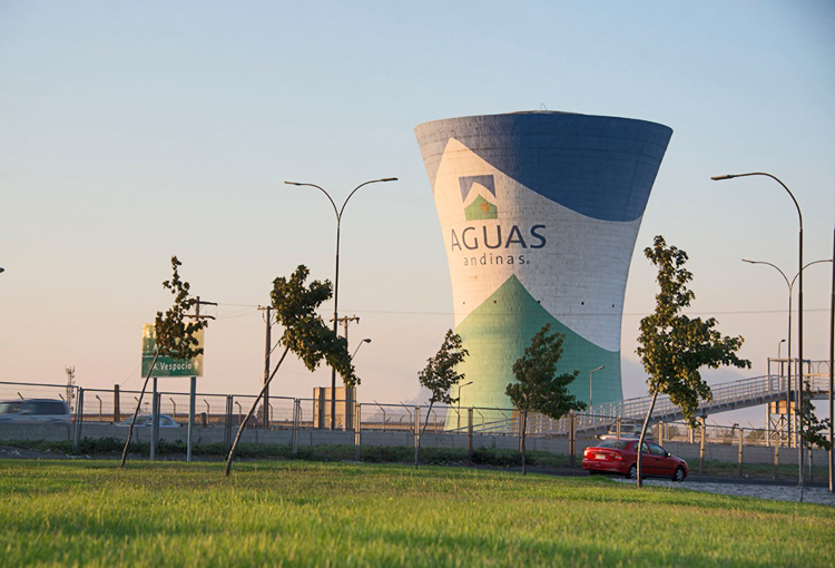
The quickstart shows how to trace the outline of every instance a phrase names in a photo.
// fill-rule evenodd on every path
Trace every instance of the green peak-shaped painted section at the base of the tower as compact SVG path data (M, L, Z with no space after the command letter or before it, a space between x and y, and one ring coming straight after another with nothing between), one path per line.
M551 324L551 331L566 336L558 372L580 372L570 392L588 403L589 372L606 365L606 369L595 372L593 403L622 400L620 352L607 351L569 330L512 275L455 330L470 352L470 356L459 365L466 376L462 383L473 382L461 390L461 408L512 408L504 393L508 384L514 380L511 368L530 344L531 337L547 323ZM454 412L450 414L454 421ZM462 417L462 421L465 421L465 417ZM478 414L474 421L479 421ZM454 428L449 419L448 428Z

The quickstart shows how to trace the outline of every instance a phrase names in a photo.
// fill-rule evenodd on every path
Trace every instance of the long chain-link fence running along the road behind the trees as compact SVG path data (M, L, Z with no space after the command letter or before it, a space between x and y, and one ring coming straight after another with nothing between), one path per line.
M16 428L0 423L0 438L70 439L81 437L122 438L139 404L139 391L84 389L55 384L0 382L0 401L31 399L61 400L70 409L63 427ZM227 447L246 420L256 396L245 394L196 393L194 398L194 430L197 441L223 442ZM157 393L160 439L183 440L190 412L189 393L161 391ZM149 431L153 393L141 400L140 438ZM265 415L266 414L266 415ZM333 428L331 425L334 419ZM37 424L36 424L37 425ZM561 420L539 414L528 418L528 448L581 456L582 450L605 438L636 438L642 423L606 414L572 413ZM256 407L244 429L244 441L291 444L294 452L299 444L413 445L423 432L421 442L428 447L519 448L521 420L513 409L461 408L445 405L410 405L402 402L380 403L353 400L293 399L269 396ZM10 438L11 437L11 438ZM35 437L35 438L32 438ZM796 435L788 425L783 431L772 429L714 425L704 422L695 428L685 422L655 422L648 437L684 458L718 459L748 463L797 463ZM821 451L809 454L824 463Z

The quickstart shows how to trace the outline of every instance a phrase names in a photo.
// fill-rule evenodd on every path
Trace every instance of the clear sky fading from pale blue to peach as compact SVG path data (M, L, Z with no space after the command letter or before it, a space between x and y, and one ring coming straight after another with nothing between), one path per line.
M674 130L630 270L626 396L646 394L638 323L655 235L687 251L697 298L767 372L804 259L832 258L835 6L828 1L41 2L0 0L0 381L139 389L141 325L170 305L169 258L218 306L198 390L254 394L272 282L334 275L361 401L420 402L453 324L414 137L441 118L562 110ZM829 264L804 273L805 352L828 359ZM796 306L795 297L795 306ZM325 304L325 317L332 304ZM796 331L795 331L796 334ZM782 347L785 356L785 345ZM796 339L795 339L796 350ZM187 380L168 379L186 391ZM273 394L330 383L288 361ZM764 421L765 409L744 414ZM719 423L739 421L720 414Z

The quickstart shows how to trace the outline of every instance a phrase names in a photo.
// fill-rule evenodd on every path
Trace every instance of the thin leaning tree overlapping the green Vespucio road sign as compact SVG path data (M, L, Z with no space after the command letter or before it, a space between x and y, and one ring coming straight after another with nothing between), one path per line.
M174 294L174 304L165 314L157 312L157 317L154 322L157 350L154 353L154 361L150 363L148 374L145 376L143 392L139 393L139 401L136 404L134 418L130 421L128 439L125 442L125 449L121 451L121 463L119 466L121 468L125 467L125 461L127 460L128 447L134 437L134 424L136 424L136 418L143 405L145 391L148 389L148 380L154 373L154 368L159 356L187 360L203 354L203 347L198 346L199 342L195 335L208 325L208 321L200 319L187 321L188 312L197 304L197 300L190 296L189 290L191 286L188 282L180 280L179 266L183 266L183 263L176 256L171 256L171 280L165 281L163 287L171 291L171 294Z

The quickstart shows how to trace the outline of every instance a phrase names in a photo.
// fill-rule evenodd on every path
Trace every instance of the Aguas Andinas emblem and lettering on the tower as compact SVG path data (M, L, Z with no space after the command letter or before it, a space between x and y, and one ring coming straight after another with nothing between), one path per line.
M493 221L499 219L499 207L495 194L495 180L492 175L462 176L458 178L461 189L461 200L464 204L464 217L466 221ZM471 197L471 194L473 196ZM468 199L470 203L468 204ZM483 223L468 225L458 232L453 227L450 247L451 251L470 251L474 256L463 256L464 266L484 266L497 264L528 264L529 258L524 254L517 254L520 249L543 248L547 244L543 234L544 225L532 225L527 232L522 232L519 225L510 228L502 227L501 223ZM487 248L480 256L478 252ZM503 252L495 249L504 249ZM508 254L514 253L514 254Z

